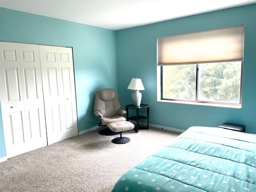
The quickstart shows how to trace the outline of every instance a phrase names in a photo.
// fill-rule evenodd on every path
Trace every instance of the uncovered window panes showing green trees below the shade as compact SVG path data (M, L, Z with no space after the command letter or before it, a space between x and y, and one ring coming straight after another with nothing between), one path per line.
M240 104L242 62L162 66L164 100Z

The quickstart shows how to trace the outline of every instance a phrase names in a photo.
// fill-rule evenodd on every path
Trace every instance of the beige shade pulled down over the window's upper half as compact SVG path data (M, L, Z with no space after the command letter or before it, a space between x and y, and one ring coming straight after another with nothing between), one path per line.
M244 25L157 38L158 66L244 60Z

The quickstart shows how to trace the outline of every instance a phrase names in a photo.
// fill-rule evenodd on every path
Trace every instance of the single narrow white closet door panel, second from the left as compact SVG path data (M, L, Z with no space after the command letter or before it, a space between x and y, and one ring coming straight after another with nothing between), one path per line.
M28 150L47 145L39 46L18 44Z

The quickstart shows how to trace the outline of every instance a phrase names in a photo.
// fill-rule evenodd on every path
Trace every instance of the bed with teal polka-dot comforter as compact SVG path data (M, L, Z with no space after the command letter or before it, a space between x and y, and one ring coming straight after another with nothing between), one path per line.
M256 135L190 127L128 170L112 192L256 192Z

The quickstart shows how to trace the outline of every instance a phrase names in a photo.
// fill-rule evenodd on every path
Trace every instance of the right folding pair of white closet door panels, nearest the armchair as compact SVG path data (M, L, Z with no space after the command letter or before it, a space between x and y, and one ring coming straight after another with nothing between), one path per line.
M71 48L40 46L48 144L78 135Z

